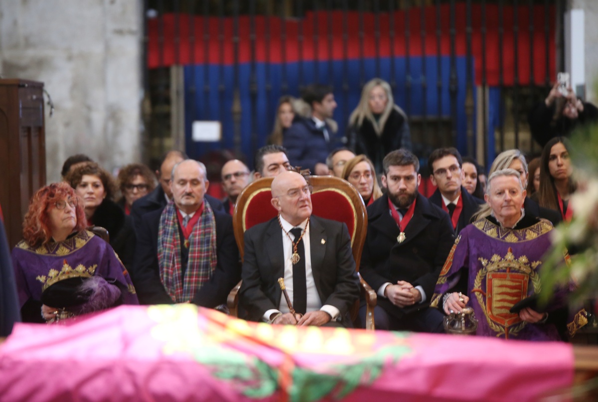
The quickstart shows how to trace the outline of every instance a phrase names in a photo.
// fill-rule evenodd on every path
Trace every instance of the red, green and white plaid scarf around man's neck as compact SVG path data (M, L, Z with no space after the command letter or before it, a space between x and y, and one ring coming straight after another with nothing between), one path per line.
M216 220L204 200L203 214L189 236L189 260L185 278L181 275L181 237L176 207L166 205L158 227L158 264L164 289L175 303L193 299L197 290L208 282L216 269Z

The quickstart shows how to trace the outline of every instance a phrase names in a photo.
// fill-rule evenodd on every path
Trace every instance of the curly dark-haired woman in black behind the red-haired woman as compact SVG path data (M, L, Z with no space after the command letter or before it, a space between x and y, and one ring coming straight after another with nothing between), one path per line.
M135 230L131 218L112 200L116 193L112 176L97 163L87 163L69 173L66 181L83 203L87 224L108 230L110 245L130 270L135 253Z

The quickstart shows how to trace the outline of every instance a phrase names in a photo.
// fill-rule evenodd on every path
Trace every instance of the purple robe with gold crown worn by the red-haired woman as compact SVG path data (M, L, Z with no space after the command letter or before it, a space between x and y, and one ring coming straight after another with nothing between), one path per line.
M22 240L11 255L20 306L29 299L41 300L44 285L66 278L72 271L102 276L120 288L123 304L139 304L129 273L114 249L87 230L38 248Z

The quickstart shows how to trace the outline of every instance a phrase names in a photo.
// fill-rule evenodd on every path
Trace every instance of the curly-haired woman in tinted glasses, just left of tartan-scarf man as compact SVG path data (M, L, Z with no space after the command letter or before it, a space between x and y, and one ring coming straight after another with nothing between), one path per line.
M132 163L118 172L118 185L123 197L117 204L129 215L133 202L154 190L154 173L141 163Z

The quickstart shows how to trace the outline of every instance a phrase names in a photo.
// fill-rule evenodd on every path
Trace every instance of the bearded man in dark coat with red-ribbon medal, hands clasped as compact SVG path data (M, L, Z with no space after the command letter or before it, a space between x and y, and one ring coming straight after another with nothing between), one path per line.
M382 162L386 194L368 206L368 232L359 273L378 294L376 329L443 332L428 305L454 242L440 207L419 194L419 161L407 150ZM365 322L365 304L359 315Z

